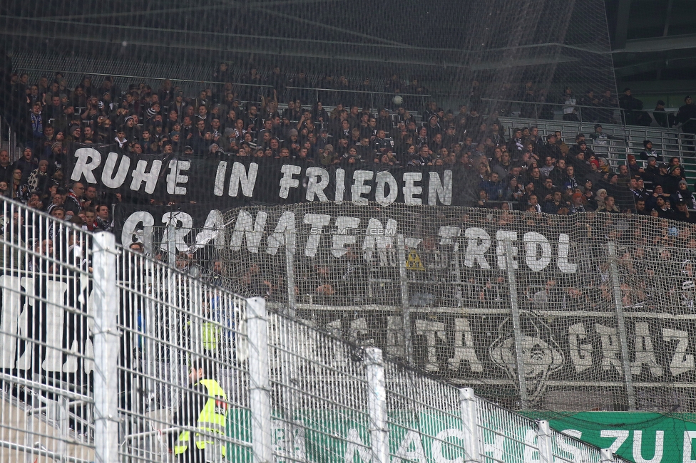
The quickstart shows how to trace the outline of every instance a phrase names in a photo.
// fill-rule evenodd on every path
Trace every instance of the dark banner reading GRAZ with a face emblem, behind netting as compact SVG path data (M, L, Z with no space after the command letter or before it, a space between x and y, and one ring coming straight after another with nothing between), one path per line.
M515 334L509 309L411 309L414 363L519 407ZM377 308L322 312L324 328L404 357L401 312ZM521 342L528 400L547 410L627 410L624 363L613 313L563 316L523 311ZM631 381L638 410L692 407L696 321L645 313L626 320ZM687 408L688 410L688 408Z

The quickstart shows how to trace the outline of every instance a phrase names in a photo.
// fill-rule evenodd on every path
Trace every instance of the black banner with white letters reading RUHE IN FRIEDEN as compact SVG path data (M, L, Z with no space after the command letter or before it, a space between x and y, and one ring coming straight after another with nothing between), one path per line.
M134 155L118 145L71 145L66 179L119 193L126 202L155 199L215 207L312 201L451 205L469 199L462 195L470 190L464 172L442 167L322 167L258 157Z

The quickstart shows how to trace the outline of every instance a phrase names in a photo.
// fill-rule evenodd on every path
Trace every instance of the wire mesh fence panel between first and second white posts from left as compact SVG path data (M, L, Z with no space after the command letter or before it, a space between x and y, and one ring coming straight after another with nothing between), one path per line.
M195 433L190 446L215 442L212 451L205 447L211 461L220 457L213 452L230 461L250 461L245 300L136 251L123 249L118 264L123 456L167 461L188 430ZM203 375L197 372L193 378L192 368L203 368ZM208 426L206 435L199 413L211 395L216 413L222 410L226 420L218 423L220 429Z

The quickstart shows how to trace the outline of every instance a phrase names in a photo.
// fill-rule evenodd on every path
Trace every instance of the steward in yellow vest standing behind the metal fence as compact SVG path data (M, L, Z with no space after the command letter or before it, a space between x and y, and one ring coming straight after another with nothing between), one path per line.
M182 431L173 444L173 452L178 462L204 463L208 460L220 461L220 457L210 456L215 447L219 447L222 459L225 459L226 447L222 439L213 435L225 436L227 425L227 395L216 380L205 379L211 368L204 368L203 361L191 367L189 379L193 388L182 397L178 412L174 415L174 424L197 427L202 433ZM203 434L205 433L205 434ZM208 452L206 452L206 448Z

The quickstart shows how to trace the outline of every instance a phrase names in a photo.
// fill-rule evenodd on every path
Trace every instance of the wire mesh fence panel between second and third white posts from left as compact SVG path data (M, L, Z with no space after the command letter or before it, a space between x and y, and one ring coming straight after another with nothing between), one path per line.
M359 348L280 313L270 314L268 329L272 442L279 461L369 454L367 379Z

